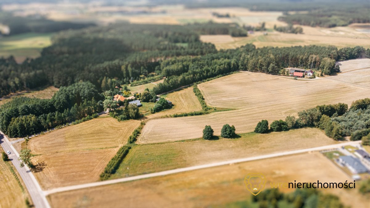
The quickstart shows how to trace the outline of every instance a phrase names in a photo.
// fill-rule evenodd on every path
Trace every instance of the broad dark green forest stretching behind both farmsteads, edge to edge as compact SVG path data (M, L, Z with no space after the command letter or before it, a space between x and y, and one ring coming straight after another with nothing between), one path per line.
M202 43L199 34L225 34L238 30L232 24L186 26L112 24L62 31L41 57L17 64L0 58L0 97L40 85L68 86L89 81L101 90L102 80L117 85L154 76L166 77L154 91L163 93L182 85L236 70L276 72L282 67L303 67L330 74L335 61L369 57L362 47L263 47L252 44L217 51Z

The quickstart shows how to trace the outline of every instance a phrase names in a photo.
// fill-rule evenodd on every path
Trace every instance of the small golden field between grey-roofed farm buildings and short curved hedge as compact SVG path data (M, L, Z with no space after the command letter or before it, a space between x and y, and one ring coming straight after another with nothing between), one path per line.
M187 113L192 111L202 110L202 105L195 96L193 87L188 87L183 90L175 91L166 95L166 100L169 100L174 105L171 109L160 111L155 114L150 114L147 118L158 118L163 115L172 115Z

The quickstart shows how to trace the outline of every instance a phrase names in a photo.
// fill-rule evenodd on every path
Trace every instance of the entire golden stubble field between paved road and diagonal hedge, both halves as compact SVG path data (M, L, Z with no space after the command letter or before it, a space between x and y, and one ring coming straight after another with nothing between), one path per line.
M97 181L139 124L99 117L32 138L28 148L40 154L32 158L34 174L44 189Z

